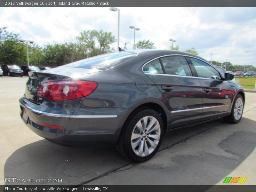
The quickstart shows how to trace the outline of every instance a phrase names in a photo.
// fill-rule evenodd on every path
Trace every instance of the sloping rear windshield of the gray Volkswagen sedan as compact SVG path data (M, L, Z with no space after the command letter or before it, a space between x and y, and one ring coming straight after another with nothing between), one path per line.
M68 65L64 65L62 67L106 70L128 59L131 59L134 56L136 56L136 53L134 52L107 53L91 57L88 59L79 60Z

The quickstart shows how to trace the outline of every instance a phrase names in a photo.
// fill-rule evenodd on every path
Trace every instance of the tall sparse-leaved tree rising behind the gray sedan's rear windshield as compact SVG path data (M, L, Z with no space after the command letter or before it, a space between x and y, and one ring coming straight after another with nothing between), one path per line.
M100 55L102 53L112 51L110 44L116 42L116 38L111 32L106 32L103 30L82 31L80 36L77 36L76 39L86 48L92 48L90 56Z

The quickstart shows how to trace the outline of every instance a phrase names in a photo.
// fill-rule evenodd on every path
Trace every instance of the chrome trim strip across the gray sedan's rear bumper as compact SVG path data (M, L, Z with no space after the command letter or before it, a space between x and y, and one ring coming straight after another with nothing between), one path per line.
M117 115L63 115L63 114L47 113L44 111L39 111L31 107L25 106L22 103L20 103L20 105L24 108L27 108L28 110L31 110L34 113L45 115L45 116L51 116L51 117L68 117L68 118L115 118L117 117Z

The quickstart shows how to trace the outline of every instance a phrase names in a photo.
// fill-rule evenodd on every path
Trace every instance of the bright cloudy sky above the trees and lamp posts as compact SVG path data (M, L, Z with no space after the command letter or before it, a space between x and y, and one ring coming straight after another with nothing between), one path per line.
M170 38L180 50L196 48L207 60L256 66L256 8L136 8L120 7L120 47L150 40L157 49L169 49ZM108 7L0 8L0 27L43 46L75 39L83 30L103 29L117 37L117 12ZM112 44L116 48L116 44Z

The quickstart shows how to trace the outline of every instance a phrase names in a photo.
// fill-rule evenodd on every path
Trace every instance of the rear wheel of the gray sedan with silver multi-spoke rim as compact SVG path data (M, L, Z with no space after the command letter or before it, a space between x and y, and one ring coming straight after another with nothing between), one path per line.
M132 162L144 162L156 154L163 135L164 124L159 114L149 108L142 109L127 119L116 149Z

